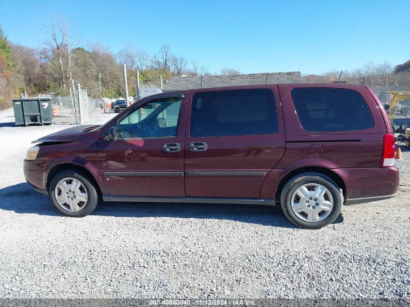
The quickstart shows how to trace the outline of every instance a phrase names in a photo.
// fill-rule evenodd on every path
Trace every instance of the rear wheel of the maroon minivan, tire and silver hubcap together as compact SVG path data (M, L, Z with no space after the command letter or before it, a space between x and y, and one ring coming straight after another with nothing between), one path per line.
M302 173L285 184L280 200L283 212L293 224L318 229L339 216L343 195L327 176Z

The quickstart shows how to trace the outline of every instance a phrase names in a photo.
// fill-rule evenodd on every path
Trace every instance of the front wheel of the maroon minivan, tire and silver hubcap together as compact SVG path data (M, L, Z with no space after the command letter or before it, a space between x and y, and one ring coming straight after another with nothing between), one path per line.
M78 170L57 173L51 179L49 196L55 210L72 217L86 216L98 204L98 193L91 178Z

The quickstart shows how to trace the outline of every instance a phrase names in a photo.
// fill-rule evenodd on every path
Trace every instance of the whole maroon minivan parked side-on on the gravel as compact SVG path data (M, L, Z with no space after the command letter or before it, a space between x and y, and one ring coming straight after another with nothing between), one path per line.
M275 205L295 225L393 197L394 135L360 84L266 84L146 97L102 126L34 141L24 175L67 216L98 201Z

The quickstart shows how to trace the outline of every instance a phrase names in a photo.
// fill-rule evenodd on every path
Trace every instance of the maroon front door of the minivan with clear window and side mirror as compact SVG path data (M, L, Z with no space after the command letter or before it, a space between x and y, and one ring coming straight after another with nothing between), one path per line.
M101 176L110 195L184 196L183 95L151 100L124 114L97 146Z

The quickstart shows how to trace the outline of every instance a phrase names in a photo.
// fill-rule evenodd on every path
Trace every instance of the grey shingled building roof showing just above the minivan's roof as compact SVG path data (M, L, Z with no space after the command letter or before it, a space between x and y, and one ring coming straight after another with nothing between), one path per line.
M301 83L300 71L272 72L234 76L172 77L165 83L164 92L234 85Z

